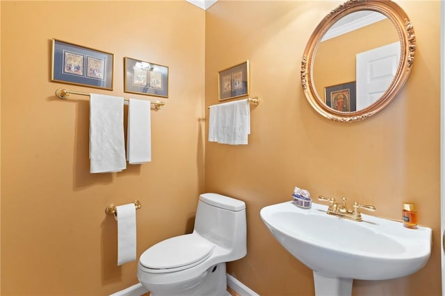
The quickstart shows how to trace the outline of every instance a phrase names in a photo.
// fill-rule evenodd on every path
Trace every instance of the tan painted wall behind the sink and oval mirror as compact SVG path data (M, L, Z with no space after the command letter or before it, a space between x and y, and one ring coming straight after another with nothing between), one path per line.
M206 14L206 105L218 103L218 71L250 60L248 146L206 143L206 191L245 200L248 255L228 272L260 295L313 295L312 272L275 241L259 211L291 200L293 187L313 197L346 196L401 218L416 202L432 227L432 256L416 274L355 281L353 295L440 295L439 1L397 1L416 30L416 61L407 85L366 121L324 119L301 87L309 36L339 1L218 1Z

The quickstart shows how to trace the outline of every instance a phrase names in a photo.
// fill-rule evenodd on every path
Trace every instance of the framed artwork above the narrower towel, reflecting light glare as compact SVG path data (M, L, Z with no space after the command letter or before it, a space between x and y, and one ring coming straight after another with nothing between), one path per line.
M124 92L168 98L168 67L125 57L124 69Z

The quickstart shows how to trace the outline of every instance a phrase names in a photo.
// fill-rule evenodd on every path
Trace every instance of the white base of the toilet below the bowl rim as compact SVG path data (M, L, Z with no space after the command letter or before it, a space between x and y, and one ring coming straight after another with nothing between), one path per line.
M199 277L192 281L162 285L150 288L150 296L230 296L227 291L226 264L219 263L211 266Z

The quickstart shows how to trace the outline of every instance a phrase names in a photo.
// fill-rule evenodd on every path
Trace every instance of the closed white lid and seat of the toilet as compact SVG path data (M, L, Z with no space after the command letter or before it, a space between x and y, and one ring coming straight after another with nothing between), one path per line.
M150 272L175 272L207 260L214 248L213 243L197 234L185 234L149 247L140 256L139 262Z

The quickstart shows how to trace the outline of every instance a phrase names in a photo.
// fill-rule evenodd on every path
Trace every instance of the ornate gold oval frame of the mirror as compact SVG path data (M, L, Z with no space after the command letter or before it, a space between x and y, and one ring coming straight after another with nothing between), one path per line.
M314 84L314 58L318 46L327 30L342 17L359 10L373 10L385 15L396 28L399 40L401 42L401 58L398 63L396 75L389 85L388 89L377 101L364 107L362 110L343 112L328 107L325 101L318 96ZM360 40L357 40L360 42ZM392 1L378 0L348 0L332 10L312 33L307 43L305 53L301 62L301 82L307 100L310 105L321 115L332 121L350 123L362 121L373 114L376 114L387 106L401 91L405 84L414 62L414 53L416 50L416 39L414 28L405 12L396 3Z

